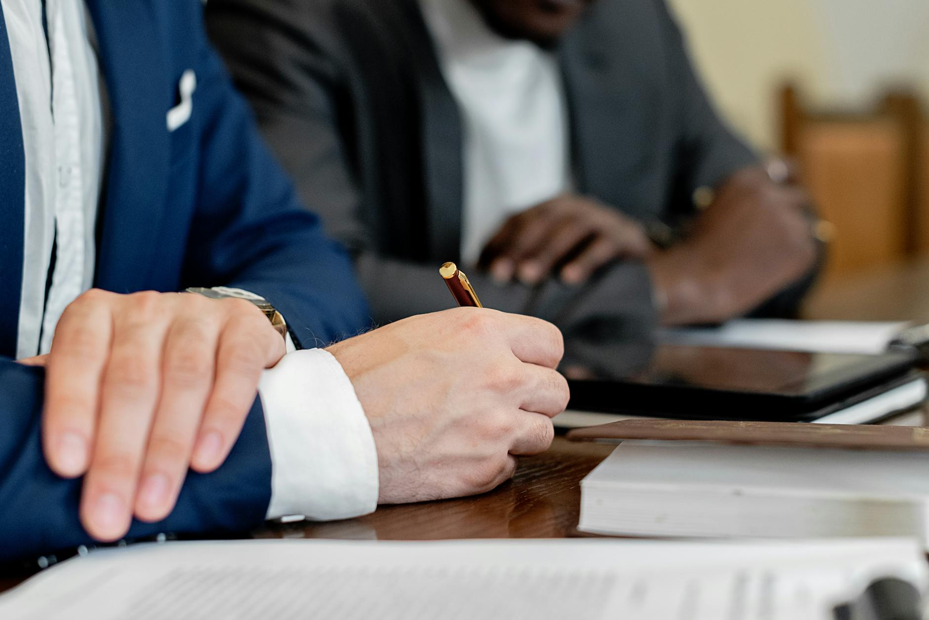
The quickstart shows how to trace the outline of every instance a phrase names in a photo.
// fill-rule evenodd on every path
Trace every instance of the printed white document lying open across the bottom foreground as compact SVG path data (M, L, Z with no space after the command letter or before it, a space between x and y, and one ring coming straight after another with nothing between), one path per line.
M0 618L825 620L875 577L922 589L924 564L906 538L178 542L63 562Z

